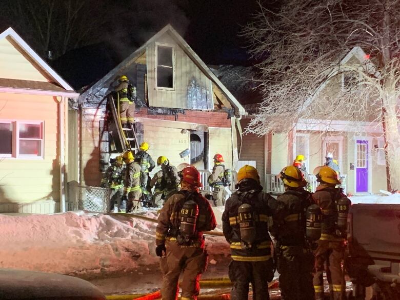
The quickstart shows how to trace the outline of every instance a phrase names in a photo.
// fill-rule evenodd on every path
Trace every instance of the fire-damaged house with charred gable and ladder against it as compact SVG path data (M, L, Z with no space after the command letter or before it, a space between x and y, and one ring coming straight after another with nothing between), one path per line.
M72 104L71 134L78 138L70 142L76 149L70 151L70 161L76 162L70 179L98 186L110 156L118 154L107 101L121 75L136 86L135 131L139 142L150 144L154 159L164 155L172 165L186 162L208 170L220 153L227 168L237 168L239 119L245 110L168 25Z

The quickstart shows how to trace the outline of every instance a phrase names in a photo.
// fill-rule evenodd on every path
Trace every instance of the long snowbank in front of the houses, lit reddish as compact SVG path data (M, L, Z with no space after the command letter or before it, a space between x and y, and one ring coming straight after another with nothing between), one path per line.
M0 214L0 267L85 276L146 268L158 263L155 226L121 214ZM229 253L223 237L206 241L210 256Z

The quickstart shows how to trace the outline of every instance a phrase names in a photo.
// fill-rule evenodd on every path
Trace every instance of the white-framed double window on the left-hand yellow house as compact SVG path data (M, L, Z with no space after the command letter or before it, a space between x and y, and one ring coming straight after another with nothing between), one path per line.
M0 157L43 158L43 122L0 120Z

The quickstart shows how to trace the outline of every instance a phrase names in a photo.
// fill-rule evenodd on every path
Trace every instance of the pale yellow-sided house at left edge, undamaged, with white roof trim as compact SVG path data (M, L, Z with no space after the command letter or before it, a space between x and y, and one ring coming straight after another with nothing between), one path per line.
M73 89L12 28L0 34L0 212L65 211Z

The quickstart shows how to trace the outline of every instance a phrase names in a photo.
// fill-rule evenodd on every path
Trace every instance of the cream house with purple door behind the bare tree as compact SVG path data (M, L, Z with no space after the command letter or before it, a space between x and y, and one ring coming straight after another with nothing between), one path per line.
M341 64L366 64L365 57L366 53L361 48L354 47L342 59ZM374 69L372 65L370 69ZM343 73L334 76L331 81L319 87L319 95L337 92L332 89L344 88L347 79ZM332 81L335 82L330 84ZM314 101L320 100L316 98ZM250 118L251 115L242 119L243 128ZM347 192L379 193L379 190L387 189L383 131L380 124L358 122L356 127L354 123L344 119L300 119L289 133L270 133L261 138L246 134L243 136L243 145L246 147L242 147L239 163L250 161L260 173L266 174L264 186L267 191L282 191L276 175L282 168L291 165L297 154L307 157L306 167L308 173L312 174L315 167L325 164L328 152L338 162L341 176L346 180ZM315 177L311 176L311 180L315 188Z

